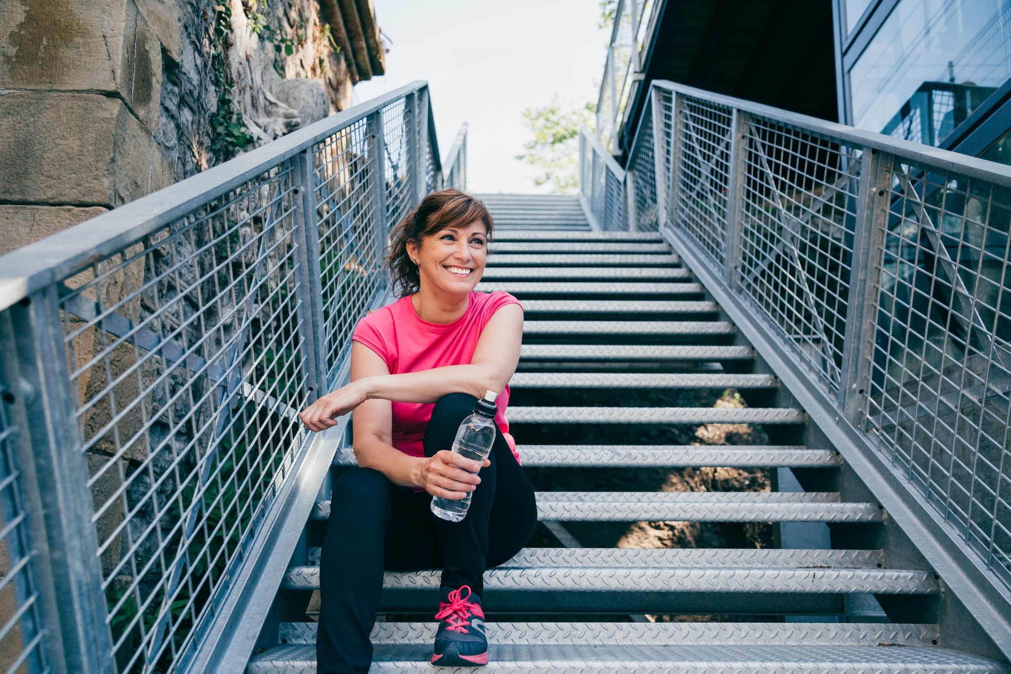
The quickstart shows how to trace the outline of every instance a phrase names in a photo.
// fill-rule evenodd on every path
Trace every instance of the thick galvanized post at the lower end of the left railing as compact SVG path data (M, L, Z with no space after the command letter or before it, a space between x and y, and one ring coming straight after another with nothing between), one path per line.
M10 308L67 670L114 672L88 463L74 413L56 286ZM96 328L97 329L97 328Z

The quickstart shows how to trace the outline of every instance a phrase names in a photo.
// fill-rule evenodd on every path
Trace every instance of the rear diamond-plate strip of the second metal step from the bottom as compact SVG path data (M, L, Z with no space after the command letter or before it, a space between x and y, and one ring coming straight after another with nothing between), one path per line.
M308 566L319 565L319 548L309 548ZM565 566L609 568L871 569L885 561L881 550L775 548L525 548L497 568Z

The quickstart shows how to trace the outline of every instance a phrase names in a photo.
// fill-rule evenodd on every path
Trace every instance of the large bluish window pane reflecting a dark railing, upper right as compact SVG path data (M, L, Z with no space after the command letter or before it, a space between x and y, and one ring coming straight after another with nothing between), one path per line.
M902 0L849 72L853 123L940 145L1011 77L1011 0Z

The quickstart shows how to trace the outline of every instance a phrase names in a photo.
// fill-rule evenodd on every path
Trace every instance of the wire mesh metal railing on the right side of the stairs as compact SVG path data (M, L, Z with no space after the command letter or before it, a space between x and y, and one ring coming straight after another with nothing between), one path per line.
M593 209L583 141L592 226L657 221L939 522L961 568L982 563L975 589L1004 596L1011 169L669 82L650 93L632 217Z

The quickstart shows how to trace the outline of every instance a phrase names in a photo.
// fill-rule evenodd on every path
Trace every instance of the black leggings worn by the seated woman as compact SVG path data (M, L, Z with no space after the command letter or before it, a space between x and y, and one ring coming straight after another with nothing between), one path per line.
M425 456L453 446L477 399L451 393L436 403L425 432ZM355 468L334 485L319 558L318 674L365 674L386 571L442 568L445 588L469 585L481 595L484 570L509 561L537 524L534 488L501 430L478 474L467 516L449 522L429 509L432 495L390 482L377 470ZM437 606L433 606L433 611Z

